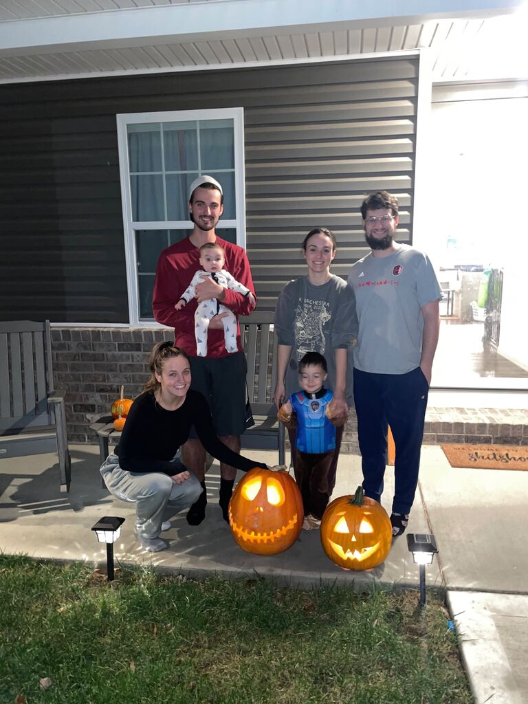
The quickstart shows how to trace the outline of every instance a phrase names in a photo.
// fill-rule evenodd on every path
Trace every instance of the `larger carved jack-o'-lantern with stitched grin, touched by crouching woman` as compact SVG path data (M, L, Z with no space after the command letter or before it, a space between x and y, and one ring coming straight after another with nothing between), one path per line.
M288 472L254 467L230 501L231 532L241 548L258 555L287 550L303 526L301 492Z

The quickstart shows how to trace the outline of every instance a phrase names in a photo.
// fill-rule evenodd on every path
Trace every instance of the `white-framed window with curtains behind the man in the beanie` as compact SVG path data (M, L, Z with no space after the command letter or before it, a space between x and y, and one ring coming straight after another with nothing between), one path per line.
M199 175L224 191L220 237L246 246L242 108L117 115L130 324L152 325L156 263L187 237L188 189Z

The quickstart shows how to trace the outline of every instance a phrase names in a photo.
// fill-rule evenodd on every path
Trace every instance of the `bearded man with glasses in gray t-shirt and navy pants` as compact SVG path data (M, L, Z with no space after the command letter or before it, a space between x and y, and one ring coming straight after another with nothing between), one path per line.
M354 403L365 495L381 501L387 426L396 447L393 536L405 532L420 468L427 394L440 329L440 284L427 255L394 240L398 201L377 191L361 206L370 253L353 265L359 333Z

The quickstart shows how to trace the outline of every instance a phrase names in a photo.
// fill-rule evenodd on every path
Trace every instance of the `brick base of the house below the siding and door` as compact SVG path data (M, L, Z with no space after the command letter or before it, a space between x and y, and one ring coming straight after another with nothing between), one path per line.
M172 340L170 329L58 328L51 331L57 389L65 389L68 439L95 443L89 429L94 417L107 415L119 396L134 398L148 377L153 344ZM358 453L356 414L351 409L342 451ZM428 408L425 444L528 445L528 410Z

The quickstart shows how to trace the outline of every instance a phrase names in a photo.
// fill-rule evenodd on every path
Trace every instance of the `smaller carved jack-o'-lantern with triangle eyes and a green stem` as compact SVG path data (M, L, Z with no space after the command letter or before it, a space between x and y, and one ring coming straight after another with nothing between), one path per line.
M341 496L327 506L321 543L330 560L344 570L371 570L389 554L391 520L383 506L358 486L355 496Z

